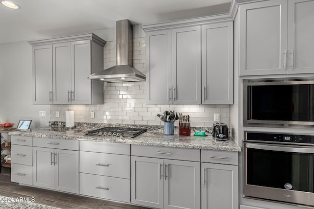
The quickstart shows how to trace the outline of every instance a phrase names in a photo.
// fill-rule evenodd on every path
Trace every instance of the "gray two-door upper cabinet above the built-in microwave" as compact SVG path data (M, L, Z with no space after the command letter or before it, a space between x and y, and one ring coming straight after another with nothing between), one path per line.
M314 0L240 5L239 74L314 72Z

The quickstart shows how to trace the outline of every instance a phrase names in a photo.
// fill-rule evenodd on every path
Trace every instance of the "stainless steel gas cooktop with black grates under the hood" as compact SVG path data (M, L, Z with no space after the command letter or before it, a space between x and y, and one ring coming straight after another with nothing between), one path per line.
M104 136L104 137L126 137L134 138L147 131L144 128L123 128L123 127L104 127L92 131L88 131L88 136Z

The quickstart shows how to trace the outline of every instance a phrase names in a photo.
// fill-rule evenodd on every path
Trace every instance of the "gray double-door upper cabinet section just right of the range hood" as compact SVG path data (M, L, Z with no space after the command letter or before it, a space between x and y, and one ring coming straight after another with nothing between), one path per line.
M146 34L148 104L201 103L201 26Z

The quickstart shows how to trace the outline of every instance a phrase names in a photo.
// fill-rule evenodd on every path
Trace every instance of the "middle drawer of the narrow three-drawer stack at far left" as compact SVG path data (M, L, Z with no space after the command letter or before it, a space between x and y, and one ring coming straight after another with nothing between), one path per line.
M24 165L33 165L33 147L11 145L11 162Z

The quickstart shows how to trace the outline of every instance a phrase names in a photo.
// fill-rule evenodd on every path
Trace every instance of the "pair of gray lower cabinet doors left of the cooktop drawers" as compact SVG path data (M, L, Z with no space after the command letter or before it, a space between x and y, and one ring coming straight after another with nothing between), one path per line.
M78 151L33 147L33 185L78 193Z

